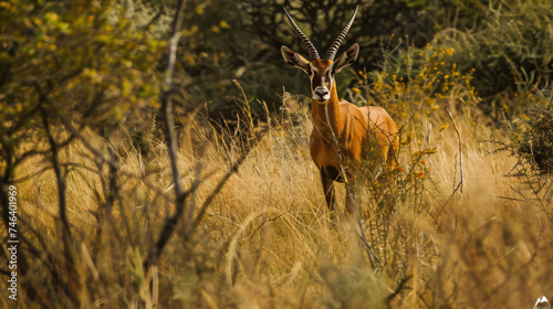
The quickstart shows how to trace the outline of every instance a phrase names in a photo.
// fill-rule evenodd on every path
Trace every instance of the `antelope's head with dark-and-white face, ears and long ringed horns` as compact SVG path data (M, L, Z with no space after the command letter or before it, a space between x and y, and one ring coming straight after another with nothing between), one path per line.
M334 60L334 57L336 56L336 52L342 44L342 40L344 40L345 35L349 31L349 28L352 28L353 20L355 19L355 14L357 13L357 9L358 7L355 9L355 12L340 33L338 38L336 38L336 40L334 40L334 42L332 43L328 52L326 52L325 58L321 58L319 56L319 52L316 51L313 43L311 43L310 39L305 34L303 34L300 28L292 20L292 17L290 17L290 14L288 13L286 9L284 9L288 20L294 29L295 34L302 40L303 44L307 49L311 61L307 61L302 55L286 46L282 46L280 49L282 57L284 57L284 61L290 65L299 67L303 72L307 73L311 79L312 97L320 104L325 104L331 98L332 85L336 73L354 63L357 58L357 55L359 54L359 45L355 43L337 60Z

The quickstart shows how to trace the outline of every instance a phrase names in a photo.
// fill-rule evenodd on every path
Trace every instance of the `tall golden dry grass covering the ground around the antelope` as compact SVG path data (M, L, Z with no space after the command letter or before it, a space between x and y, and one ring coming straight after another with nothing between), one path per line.
M397 177L380 182L382 190L374 190L382 178L357 189L361 221L341 213L333 222L309 154L307 113L271 115L258 142L238 138L251 136L253 122L221 132L182 116L182 187L199 187L154 268L144 262L175 211L167 149L154 121L145 135L147 151L125 129L108 141L86 134L90 146L104 153L111 147L118 158L111 214L103 209L107 164L82 142L63 149L76 275L64 268L55 177L42 171L45 162L27 161L17 170L23 178L17 184L21 231L43 252L27 253L32 269L21 283L32 280L34 295L22 292L18 306L529 308L551 296L547 210L523 180L508 177L515 159L490 154L493 143L482 142L505 140L503 130L477 126L468 113L455 115L463 175L462 192L453 193L461 180L457 134L442 127L449 121L445 113L421 117L409 127ZM248 147L246 161L189 234L199 205ZM338 185L340 211L344 191ZM54 290L56 281L75 283L74 295ZM6 294L1 303L9 303Z

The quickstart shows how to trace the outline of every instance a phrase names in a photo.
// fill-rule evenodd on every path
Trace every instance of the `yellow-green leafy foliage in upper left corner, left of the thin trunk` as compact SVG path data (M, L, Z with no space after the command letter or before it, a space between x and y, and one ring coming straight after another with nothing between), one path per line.
M152 118L144 111L158 106L156 64L166 42L136 15L117 1L0 2L3 181L44 153L18 145L52 138L64 147L83 128L107 138L122 122L143 126ZM61 137L61 124L73 134Z

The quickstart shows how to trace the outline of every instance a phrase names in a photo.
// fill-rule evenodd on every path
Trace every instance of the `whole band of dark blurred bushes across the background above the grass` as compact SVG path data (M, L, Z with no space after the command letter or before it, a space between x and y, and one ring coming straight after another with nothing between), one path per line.
M3 105L9 102L20 110L32 109L31 96L39 92L34 83L53 96L50 100L58 107L49 108L86 110L90 105L88 109L105 113L100 117L103 120L109 119L107 115L121 120L133 114L131 109L156 107L155 76L165 67L161 55L166 52L164 40L170 31L174 3L1 3ZM354 74L358 71L394 71L409 83L408 76L427 64L422 54L428 46L455 50L447 65L455 63L460 75L473 71L472 84L482 98L480 107L494 113L495 119L500 108L522 114L533 103L535 92L549 87L553 9L547 1L190 0L177 57L177 106L231 121L242 98L233 78L253 103L265 102L273 110L281 104L283 87L306 95L307 78L284 65L279 52L281 45L288 45L305 54L282 7L289 8L300 28L324 53L357 4L359 12L343 45L357 42L361 54L353 68L338 76L342 97L346 89L359 86ZM409 53L411 56L406 57ZM392 79L387 83L393 84ZM30 90L21 93L21 87ZM132 102L135 98L131 94L137 94L138 102ZM509 106L503 98L513 95L520 98ZM98 100L116 104L103 108ZM252 104L252 111L264 115L263 105ZM4 116L13 118L10 115Z

